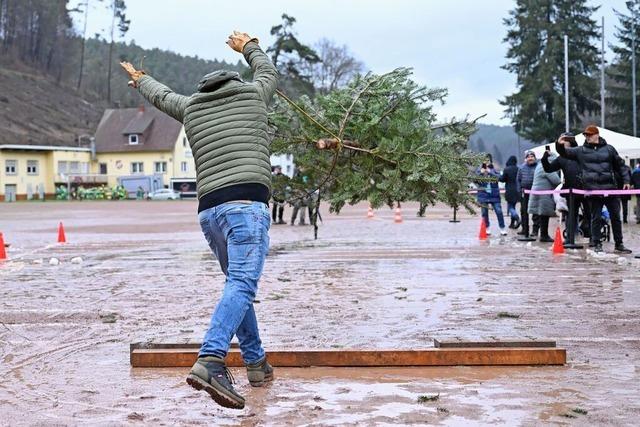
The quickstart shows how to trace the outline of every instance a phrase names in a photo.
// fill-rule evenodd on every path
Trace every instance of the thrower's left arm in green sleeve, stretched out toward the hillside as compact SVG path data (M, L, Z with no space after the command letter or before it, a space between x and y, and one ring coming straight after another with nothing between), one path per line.
M175 93L153 77L146 75L144 71L136 70L128 62L121 62L120 65L131 78L129 86L137 88L140 94L158 110L179 122L183 121L189 97Z

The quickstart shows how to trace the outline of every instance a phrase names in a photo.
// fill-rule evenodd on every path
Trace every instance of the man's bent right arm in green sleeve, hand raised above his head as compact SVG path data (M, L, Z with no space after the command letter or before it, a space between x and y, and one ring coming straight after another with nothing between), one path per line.
M267 54L260 49L258 39L251 38L247 33L234 31L229 36L227 44L244 55L253 71L253 84L256 85L265 104L269 104L278 87L278 70Z

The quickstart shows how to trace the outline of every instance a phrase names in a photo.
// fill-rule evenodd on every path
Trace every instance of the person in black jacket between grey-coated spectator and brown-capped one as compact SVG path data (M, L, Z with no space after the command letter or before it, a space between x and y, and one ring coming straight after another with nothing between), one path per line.
M562 144L565 148L574 148L578 146L576 142L575 136L571 132L565 132L560 135L558 141L556 141L556 151L558 151L558 145ZM580 174L580 164L576 160L567 159L566 157L556 157L555 160L549 161L550 153L548 151L544 152L542 156L542 167L545 172L557 172L562 171L562 176L564 178L564 182L562 185L562 189L582 189L582 176ZM567 197L567 196L565 196ZM575 224L576 230L578 227L578 215L580 212L580 207L582 207L582 217L583 223L588 224L582 230L584 237L591 237L591 209L589 207L588 199L582 195L575 194L573 196L574 206L575 206Z

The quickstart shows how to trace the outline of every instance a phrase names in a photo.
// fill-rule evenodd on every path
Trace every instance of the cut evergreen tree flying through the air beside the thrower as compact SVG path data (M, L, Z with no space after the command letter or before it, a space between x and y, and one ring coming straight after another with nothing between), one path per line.
M334 211L365 200L374 208L412 200L471 209L469 171L480 157L467 142L475 122L437 124L432 105L447 91L411 77L404 68L358 75L345 88L302 96L295 107L276 99L272 151L292 153Z

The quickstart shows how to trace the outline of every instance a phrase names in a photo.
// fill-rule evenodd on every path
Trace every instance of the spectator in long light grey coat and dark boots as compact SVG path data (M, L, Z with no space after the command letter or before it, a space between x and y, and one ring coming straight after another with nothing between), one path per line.
M549 151L545 153L545 156L549 156ZM557 172L546 172L542 163L540 163L536 166L531 189L534 191L555 190L561 182L560 175ZM540 242L553 242L553 239L549 236L549 218L556 214L556 202L553 200L553 195L532 194L529 199L529 213L538 215Z

